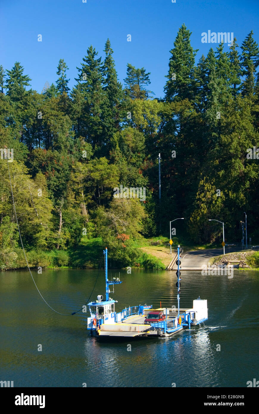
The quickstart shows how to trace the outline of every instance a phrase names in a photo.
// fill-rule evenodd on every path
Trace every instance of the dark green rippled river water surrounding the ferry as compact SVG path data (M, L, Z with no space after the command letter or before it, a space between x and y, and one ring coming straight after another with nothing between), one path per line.
M38 289L61 313L86 303L97 274L33 271ZM117 270L110 274L118 277ZM182 271L181 277L180 307L192 308L198 296L207 299L204 324L170 338L99 342L86 330L88 313L58 315L28 271L0 272L0 380L14 381L14 387L247 387L259 380L259 273L234 272L228 279ZM118 312L139 303L177 306L175 272L122 270L120 279L110 294ZM105 296L103 270L91 299L98 294Z

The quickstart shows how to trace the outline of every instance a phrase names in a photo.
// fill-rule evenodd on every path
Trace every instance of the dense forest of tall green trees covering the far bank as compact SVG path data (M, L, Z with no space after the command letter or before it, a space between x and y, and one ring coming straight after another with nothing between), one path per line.
M26 267L8 166L32 267L96 267L106 246L113 267L153 267L137 246L169 242L178 217L173 241L221 243L217 219L234 243L246 212L258 242L258 44L251 30L241 46L219 43L195 63L190 36L182 24L160 99L148 68L128 63L122 85L109 39L102 56L91 45L75 62L72 89L64 57L41 93L22 63L0 66L0 269ZM121 186L145 197L115 197Z

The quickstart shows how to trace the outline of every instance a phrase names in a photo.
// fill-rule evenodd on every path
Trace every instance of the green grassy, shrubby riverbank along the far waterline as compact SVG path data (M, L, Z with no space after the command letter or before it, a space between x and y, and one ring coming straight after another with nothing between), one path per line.
M177 251L177 245L184 249L204 250L207 248L218 248L221 245L215 243L209 245L194 245L188 240L173 237L172 253ZM153 238L141 237L118 250L118 244L108 244L108 267L110 269L132 267L142 269L165 269L169 264L172 255L170 254L169 240L165 236ZM29 266L32 268L79 268L79 269L96 269L103 260L103 248L106 246L101 237L86 238L83 237L80 243L73 248L66 250L39 250L37 248L27 248L26 257ZM237 253L238 254L238 253ZM228 254L227 254L228 255ZM227 257L225 255L225 257ZM251 270L259 268L259 253L249 254L247 264ZM223 256L218 256L211 260L211 264L220 260ZM26 268L26 260L22 248L11 248L0 251L0 270L22 269Z

